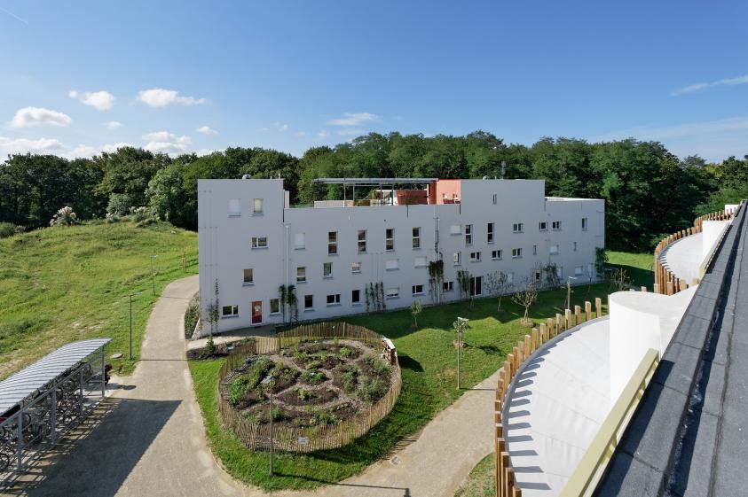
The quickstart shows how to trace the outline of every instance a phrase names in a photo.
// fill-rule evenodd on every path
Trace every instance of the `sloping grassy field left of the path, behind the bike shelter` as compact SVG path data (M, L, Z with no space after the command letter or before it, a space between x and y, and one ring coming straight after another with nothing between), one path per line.
M182 270L186 252L187 273ZM111 337L107 353L128 353L128 295L133 298L133 353L156 294L197 272L197 233L168 223L130 221L37 229L0 240L0 378L75 340ZM134 361L111 361L129 373Z

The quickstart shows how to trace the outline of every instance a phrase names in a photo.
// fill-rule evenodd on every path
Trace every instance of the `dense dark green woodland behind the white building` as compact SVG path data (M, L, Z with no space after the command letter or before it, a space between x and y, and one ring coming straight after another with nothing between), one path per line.
M589 144L543 138L505 144L484 131L468 136L371 133L335 148L314 147L296 158L262 148L228 148L197 157L170 158L125 147L93 159L12 155L0 164L0 222L35 229L48 226L62 206L78 219L150 213L187 229L197 226L198 178L285 179L293 204L340 198L337 186L311 183L318 176L439 178L542 178L549 196L604 198L607 245L650 251L667 233L693 218L748 198L748 156L707 164L678 159L657 142L628 139Z

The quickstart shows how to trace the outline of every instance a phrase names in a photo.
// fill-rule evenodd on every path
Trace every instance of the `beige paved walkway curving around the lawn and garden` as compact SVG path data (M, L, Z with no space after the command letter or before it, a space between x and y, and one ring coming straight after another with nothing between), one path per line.
M229 477L206 443L180 330L197 285L197 276L191 276L167 286L148 320L142 361L134 375L104 402L106 414L100 423L86 436L68 442L64 459L38 470L36 484L22 493L268 495ZM356 477L314 492L273 495L452 497L469 471L492 451L497 378L497 374L487 378L437 415L397 458L377 462Z

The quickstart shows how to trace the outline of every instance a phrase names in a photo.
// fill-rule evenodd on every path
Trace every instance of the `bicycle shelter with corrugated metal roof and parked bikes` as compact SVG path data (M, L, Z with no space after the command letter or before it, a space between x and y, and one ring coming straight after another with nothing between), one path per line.
M61 346L0 382L0 483L20 475L104 398L110 341Z

